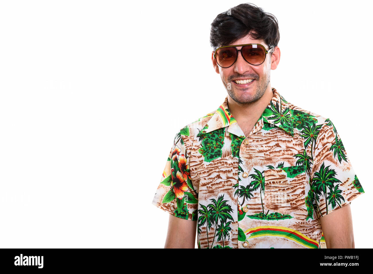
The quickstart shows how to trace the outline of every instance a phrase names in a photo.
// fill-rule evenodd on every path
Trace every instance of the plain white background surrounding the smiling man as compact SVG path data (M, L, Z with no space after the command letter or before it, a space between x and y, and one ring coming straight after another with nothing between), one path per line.
M163 248L169 214L151 201L176 132L227 94L210 24L240 3L0 2L1 247ZM279 21L272 87L341 136L366 191L355 247L370 248L372 4L254 4Z

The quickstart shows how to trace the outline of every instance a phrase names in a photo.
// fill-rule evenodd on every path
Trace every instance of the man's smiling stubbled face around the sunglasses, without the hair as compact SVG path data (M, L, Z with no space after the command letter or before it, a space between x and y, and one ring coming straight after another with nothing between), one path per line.
M268 51L270 48L263 40L254 40L251 38L250 34L244 38L238 39L233 42L232 45L242 45L257 43L263 45ZM237 47L240 50L242 46ZM277 48L277 47L276 47ZM220 74L222 82L231 98L241 104L248 104L256 102L260 99L267 90L270 90L270 70L277 67L277 63L273 64L271 62L271 55L267 54L266 59L259 66L254 66L247 63L238 52L238 57L236 62L228 68L222 68L212 57L213 66L215 71ZM272 65L271 65L272 63ZM234 80L236 79L254 79L253 82L244 85L237 84Z

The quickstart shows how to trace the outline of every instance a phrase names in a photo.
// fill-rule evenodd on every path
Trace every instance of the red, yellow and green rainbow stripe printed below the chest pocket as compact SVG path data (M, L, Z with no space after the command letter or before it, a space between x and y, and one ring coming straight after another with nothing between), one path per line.
M245 231L246 235L251 234L247 239L262 237L262 236L276 236L292 240L306 248L319 248L319 242L313 240L295 229L284 226L257 226Z

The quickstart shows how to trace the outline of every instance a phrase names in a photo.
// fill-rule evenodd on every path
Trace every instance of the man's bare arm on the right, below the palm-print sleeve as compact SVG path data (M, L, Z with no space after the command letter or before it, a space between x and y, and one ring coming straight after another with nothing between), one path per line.
M355 248L350 203L320 218L326 248Z

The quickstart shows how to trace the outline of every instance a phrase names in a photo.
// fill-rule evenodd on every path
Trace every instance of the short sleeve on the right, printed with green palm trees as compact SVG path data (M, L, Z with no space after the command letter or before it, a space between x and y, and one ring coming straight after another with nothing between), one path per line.
M313 150L311 190L313 207L318 218L341 208L364 193L352 168L341 137L326 119L319 130Z

